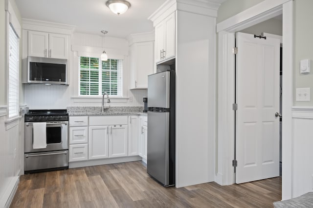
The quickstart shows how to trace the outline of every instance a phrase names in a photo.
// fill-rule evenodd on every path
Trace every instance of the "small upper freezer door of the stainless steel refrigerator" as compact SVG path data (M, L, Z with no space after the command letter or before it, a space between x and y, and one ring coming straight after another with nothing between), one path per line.
M148 76L148 108L170 108L170 72Z

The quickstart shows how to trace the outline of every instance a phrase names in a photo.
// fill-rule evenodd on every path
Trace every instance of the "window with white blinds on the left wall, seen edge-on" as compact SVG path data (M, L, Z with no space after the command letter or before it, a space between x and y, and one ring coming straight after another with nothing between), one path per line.
M9 27L8 116L19 115L19 38Z

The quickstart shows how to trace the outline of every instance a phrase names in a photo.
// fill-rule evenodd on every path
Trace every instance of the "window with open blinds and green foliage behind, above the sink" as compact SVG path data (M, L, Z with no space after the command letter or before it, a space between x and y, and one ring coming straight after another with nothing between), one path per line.
M79 95L122 96L122 60L80 57Z

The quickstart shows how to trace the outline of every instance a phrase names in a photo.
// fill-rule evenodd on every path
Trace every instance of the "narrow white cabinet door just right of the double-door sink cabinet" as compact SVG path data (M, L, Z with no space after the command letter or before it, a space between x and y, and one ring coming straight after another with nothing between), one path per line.
M138 155L139 149L139 116L128 117L128 155Z

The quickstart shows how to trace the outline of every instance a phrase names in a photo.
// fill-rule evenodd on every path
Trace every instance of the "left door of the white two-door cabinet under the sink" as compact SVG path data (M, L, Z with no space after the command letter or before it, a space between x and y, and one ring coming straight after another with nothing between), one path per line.
M89 126L89 160L109 157L109 126Z

